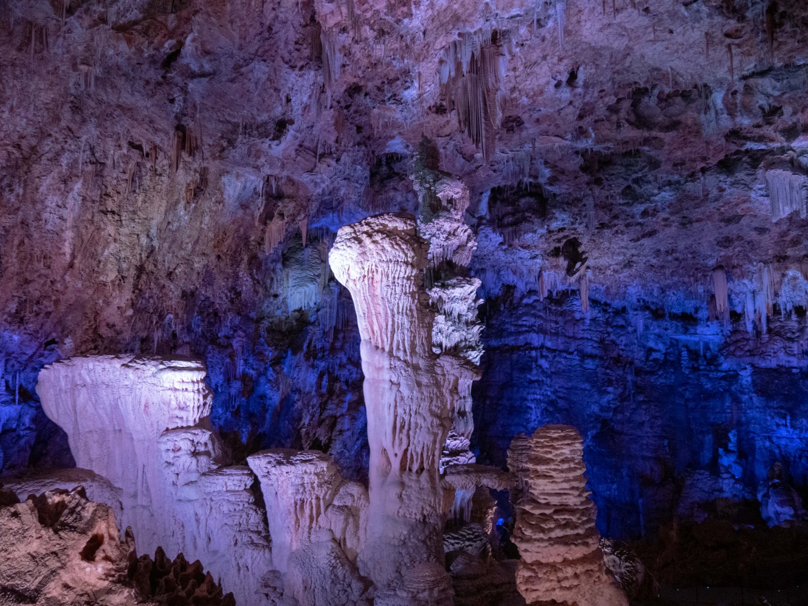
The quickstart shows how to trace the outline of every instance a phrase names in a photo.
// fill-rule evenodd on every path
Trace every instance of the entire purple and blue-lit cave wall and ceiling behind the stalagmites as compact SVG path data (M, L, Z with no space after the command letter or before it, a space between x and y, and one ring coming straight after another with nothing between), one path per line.
M806 36L801 0L0 0L3 471L72 465L44 364L124 352L202 358L234 461L364 478L327 251L415 211L426 134L478 233L482 460L573 424L621 537L733 430L743 490L805 486Z

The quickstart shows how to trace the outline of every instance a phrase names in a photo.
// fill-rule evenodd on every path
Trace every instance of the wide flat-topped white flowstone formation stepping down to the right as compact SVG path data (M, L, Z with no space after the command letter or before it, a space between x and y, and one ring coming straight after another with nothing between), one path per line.
M49 364L36 389L77 465L120 490L139 551L199 559L251 604L271 567L265 523L250 470L217 466L204 376L194 361L92 356Z

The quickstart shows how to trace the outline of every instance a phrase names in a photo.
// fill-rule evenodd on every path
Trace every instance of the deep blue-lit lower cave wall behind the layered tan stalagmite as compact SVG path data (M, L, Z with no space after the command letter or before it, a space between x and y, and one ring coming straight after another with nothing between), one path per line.
M653 535L674 516L692 519L694 500L754 499L776 461L806 490L806 359L771 368L766 351L804 338L804 314L737 335L642 306L593 302L587 315L568 292L528 292L486 323L474 391L481 459L503 464L513 436L546 423L578 427L605 535ZM730 431L743 469L734 491L717 488Z

